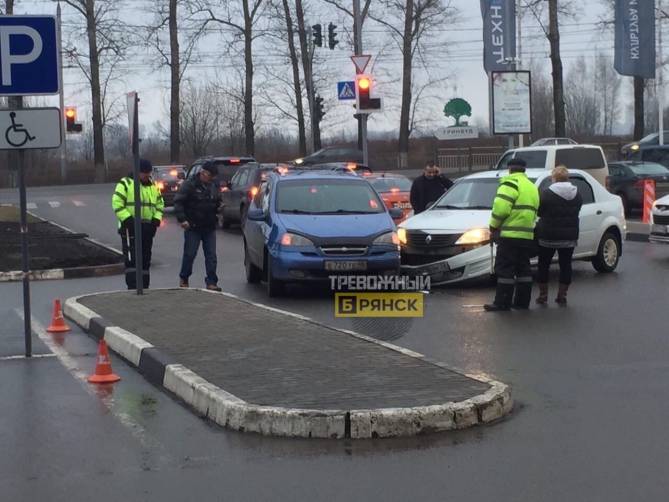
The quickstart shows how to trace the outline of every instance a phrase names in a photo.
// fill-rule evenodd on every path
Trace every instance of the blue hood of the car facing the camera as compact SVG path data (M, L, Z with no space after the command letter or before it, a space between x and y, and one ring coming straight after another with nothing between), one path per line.
M393 230L388 213L376 214L278 214L286 230L327 239L330 237L368 237Z

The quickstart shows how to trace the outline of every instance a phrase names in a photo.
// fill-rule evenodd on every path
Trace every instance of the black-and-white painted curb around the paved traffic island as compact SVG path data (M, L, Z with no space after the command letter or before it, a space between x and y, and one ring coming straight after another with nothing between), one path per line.
M199 291L222 294L265 310L333 329L342 336L354 336L360 340L400 352L407 357L432 363L417 352L350 330L333 328L309 317L251 302L231 293L217 293L206 289L199 289ZM488 424L509 414L513 408L510 387L482 374L466 376L489 384L490 389L486 392L465 401L437 405L363 410L318 410L248 403L208 382L182 364L172 361L172 358L146 340L123 328L110 325L97 313L79 303L79 299L89 296L95 295L87 294L68 298L64 304L65 315L92 336L104 338L110 349L138 368L148 380L164 387L199 415L223 427L240 432L256 432L266 436L332 439L414 436ZM438 365L447 368L443 364Z

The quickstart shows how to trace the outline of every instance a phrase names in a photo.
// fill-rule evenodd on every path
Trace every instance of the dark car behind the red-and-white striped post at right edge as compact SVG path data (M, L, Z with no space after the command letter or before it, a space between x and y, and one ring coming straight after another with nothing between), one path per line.
M606 188L623 200L625 215L635 209L643 208L643 182L655 181L657 199L669 194L669 169L655 162L612 162L609 164L609 176Z

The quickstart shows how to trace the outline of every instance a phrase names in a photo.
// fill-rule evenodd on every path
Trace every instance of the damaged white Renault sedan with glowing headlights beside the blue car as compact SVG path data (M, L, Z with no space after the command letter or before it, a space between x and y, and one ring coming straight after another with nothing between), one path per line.
M591 261L598 272L612 272L626 230L622 201L590 174L569 172L583 198L574 259ZM551 184L545 169L528 169L526 174L540 191ZM429 209L402 222L402 272L427 274L433 285L490 275L495 246L490 245L488 223L499 180L507 175L487 171L460 178Z

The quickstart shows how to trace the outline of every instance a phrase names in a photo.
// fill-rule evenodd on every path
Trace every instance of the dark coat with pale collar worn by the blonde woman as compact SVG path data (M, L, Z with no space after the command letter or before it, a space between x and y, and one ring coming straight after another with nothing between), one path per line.
M578 241L583 200L569 182L553 183L541 192L535 237L544 247L574 247ZM562 245L560 245L562 244Z

